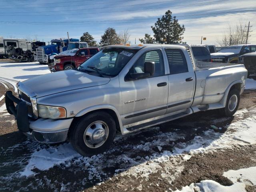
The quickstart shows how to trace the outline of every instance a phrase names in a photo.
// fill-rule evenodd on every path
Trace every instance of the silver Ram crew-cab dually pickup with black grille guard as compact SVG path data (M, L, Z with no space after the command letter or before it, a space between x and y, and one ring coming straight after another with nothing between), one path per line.
M242 64L195 62L189 45L106 46L75 70L19 82L19 98L6 92L6 108L30 138L70 140L91 156L107 150L117 131L204 110L232 116L246 77Z

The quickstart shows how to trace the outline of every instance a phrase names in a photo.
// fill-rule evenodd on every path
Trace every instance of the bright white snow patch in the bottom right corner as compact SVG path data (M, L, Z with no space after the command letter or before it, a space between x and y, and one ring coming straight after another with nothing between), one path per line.
M246 192L246 185L256 185L256 167L250 167L239 170L229 170L224 172L223 176L231 180L234 184L231 186L223 186L213 180L203 180L200 183L192 183L190 186L183 187L182 190L175 192Z

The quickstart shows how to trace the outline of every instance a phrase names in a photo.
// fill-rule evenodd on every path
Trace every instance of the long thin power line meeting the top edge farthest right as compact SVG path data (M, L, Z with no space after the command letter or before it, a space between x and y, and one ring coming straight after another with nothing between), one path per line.
M218 1L210 1L210 2L202 2L202 3L194 3L194 4L184 4L184 5L177 5L177 6L171 6L171 7L179 7L179 6L188 6L188 5L198 5L198 4L206 4L206 3L214 3L214 2L224 2L224 1L228 1L228 0L218 0ZM119 7L119 6L116 6ZM86 15L86 14L98 14L98 13L114 13L114 12L124 12L124 11L140 11L140 10L152 10L152 9L160 9L160 8L170 8L170 6L168 7L158 7L158 8L143 8L143 9L134 9L134 10L119 10L119 11L104 11L104 12L92 12L92 13L71 13L71 14L61 14L63 15ZM71 11L71 10L70 10ZM0 16L54 16L54 15L58 15L59 14L47 14L47 15L0 15Z

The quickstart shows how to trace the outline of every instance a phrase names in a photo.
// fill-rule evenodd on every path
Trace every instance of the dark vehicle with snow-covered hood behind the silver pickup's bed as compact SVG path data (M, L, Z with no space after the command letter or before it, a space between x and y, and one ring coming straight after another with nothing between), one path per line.
M255 52L256 45L232 45L219 50L217 53L212 53L213 62L222 63L238 63L239 56L246 53Z

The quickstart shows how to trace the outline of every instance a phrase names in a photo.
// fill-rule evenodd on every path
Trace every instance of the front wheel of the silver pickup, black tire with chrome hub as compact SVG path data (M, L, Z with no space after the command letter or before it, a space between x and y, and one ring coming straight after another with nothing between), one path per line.
M103 135L104 134L104 135ZM70 131L70 142L82 156L105 152L113 143L116 123L106 112L93 112L82 117Z

